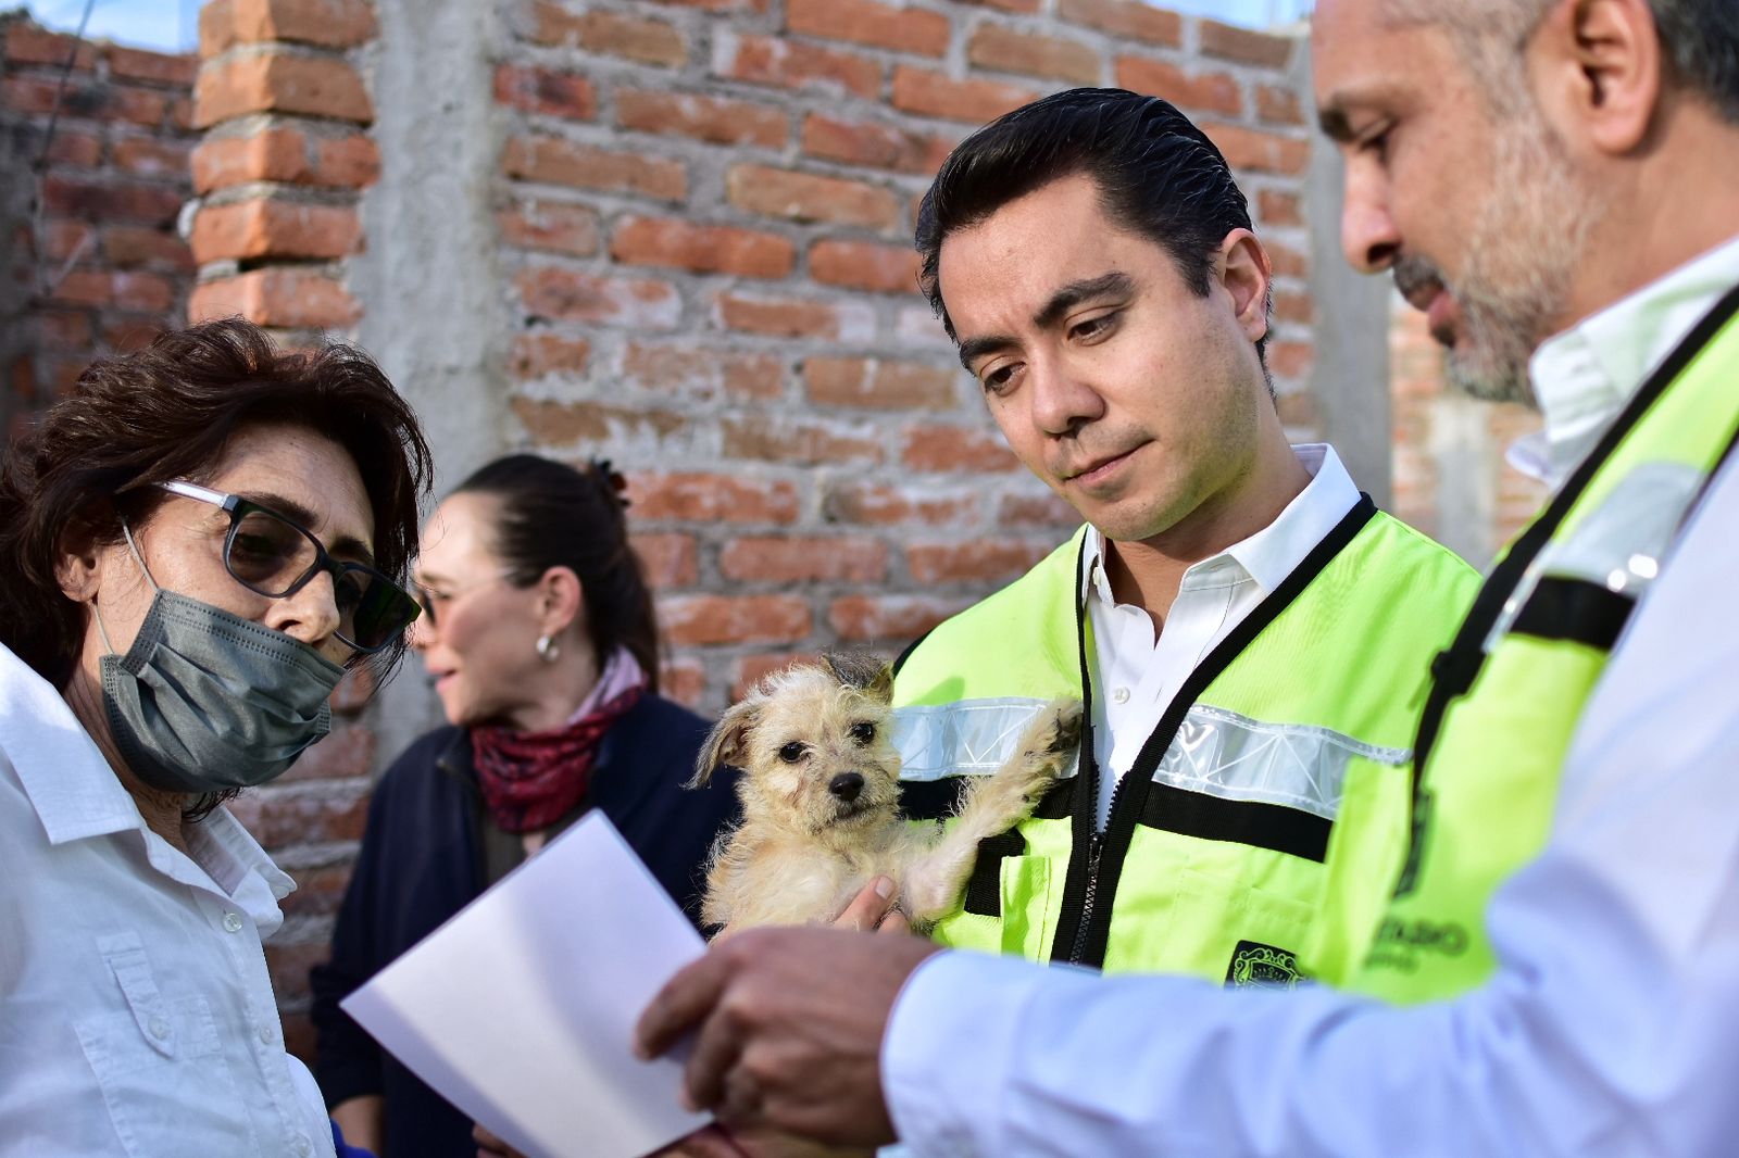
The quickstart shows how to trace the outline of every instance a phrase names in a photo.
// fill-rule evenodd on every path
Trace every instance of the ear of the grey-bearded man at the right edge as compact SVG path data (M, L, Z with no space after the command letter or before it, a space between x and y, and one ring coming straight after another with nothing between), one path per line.
M1548 123L1595 151L1647 144L1666 63L1649 0L1560 0L1527 49L1529 83Z

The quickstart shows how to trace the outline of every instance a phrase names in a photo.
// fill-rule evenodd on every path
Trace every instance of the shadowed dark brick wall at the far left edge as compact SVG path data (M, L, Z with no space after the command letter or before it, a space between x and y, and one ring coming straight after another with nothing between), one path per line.
M0 228L10 252L0 421L10 431L94 356L181 323L193 263L176 216L190 195L197 61L108 43L73 54L71 37L19 14L0 17Z

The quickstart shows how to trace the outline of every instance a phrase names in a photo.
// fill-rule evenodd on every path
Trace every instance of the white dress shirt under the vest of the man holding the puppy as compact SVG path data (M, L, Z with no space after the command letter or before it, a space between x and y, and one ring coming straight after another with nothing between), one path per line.
M1087 529L1080 598L1092 619L1097 659L1092 727L1099 828L1111 815L1116 782L1136 765L1141 746L1160 727L1160 716L1189 673L1358 502L1358 487L1334 447L1306 443L1292 452L1309 471L1309 483L1275 522L1184 572L1158 638L1146 610L1118 603L1111 595L1104 536Z

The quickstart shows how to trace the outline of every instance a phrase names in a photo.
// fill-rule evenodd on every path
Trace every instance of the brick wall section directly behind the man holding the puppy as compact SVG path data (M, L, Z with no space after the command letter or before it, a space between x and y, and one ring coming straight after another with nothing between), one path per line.
M503 12L508 440L630 473L682 699L894 654L1075 525L915 287L929 179L1017 104L1116 83L1203 122L1275 252L1285 414L1315 421L1292 40L1132 0Z

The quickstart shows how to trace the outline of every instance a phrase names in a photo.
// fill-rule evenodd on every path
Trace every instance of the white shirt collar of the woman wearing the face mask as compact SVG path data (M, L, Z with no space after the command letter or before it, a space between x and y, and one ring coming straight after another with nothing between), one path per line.
M0 645L0 746L37 810L50 845L137 831L155 833L110 769L78 716L30 664ZM282 922L277 901L296 888L228 809L191 824L193 861L242 908L261 932ZM162 838L157 838L162 840ZM169 849L167 842L162 842ZM151 855L153 864L160 857ZM165 868L165 864L158 864ZM174 873L172 873L174 875Z

